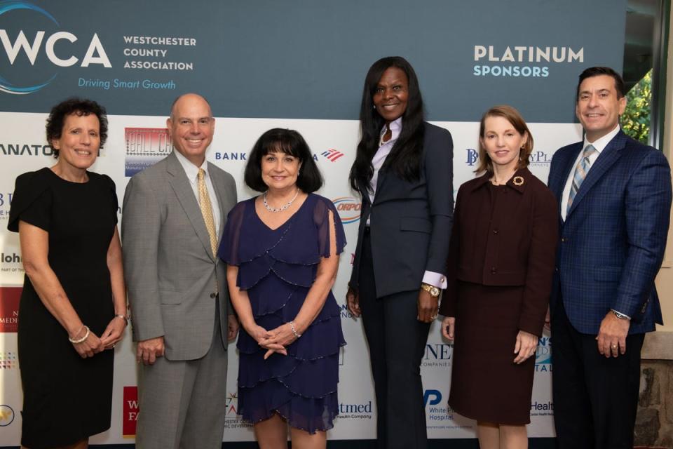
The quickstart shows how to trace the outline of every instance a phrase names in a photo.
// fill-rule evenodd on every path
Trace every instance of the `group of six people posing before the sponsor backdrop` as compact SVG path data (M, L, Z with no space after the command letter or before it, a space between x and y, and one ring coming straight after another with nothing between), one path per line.
M451 134L425 121L414 69L399 57L369 69L346 301L369 345L377 447L427 447L420 366L441 314L454 340L449 406L477 421L481 448L527 446L549 325L559 447L632 448L640 349L662 321L654 279L672 194L662 153L620 130L624 95L612 69L580 74L584 140L556 152L548 186L527 168L533 135L521 114L489 109L478 176L454 209ZM331 290L346 239L333 203L315 194L311 150L294 130L261 135L244 177L261 194L237 203L233 177L206 161L208 102L180 96L166 126L174 151L128 182L121 241L114 182L88 170L107 138L97 103L55 106L57 163L16 180L22 447L86 448L109 428L128 295L138 448L221 447L239 326L238 413L260 448L286 447L288 432L295 448L325 448L339 410L345 341Z

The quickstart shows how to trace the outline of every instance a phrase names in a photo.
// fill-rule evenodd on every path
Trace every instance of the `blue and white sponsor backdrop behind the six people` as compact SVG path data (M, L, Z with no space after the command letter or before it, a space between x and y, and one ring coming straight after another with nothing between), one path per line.
M15 177L54 163L43 136L55 103L79 95L107 107L109 139L93 169L112 177L120 198L130 175L171 151L165 118L181 93L210 100L217 121L208 160L236 178L240 200L254 194L243 185L243 168L257 137L272 127L304 135L325 175L319 193L337 206L348 239L334 286L348 345L329 438L374 438L367 344L344 300L361 206L347 178L367 69L386 55L412 62L428 119L454 136L454 192L474 176L481 114L503 103L529 121L531 170L546 181L555 149L581 138L577 75L592 65L621 69L624 26L625 0L0 0L0 446L18 445L22 408L16 329L24 271L18 235L6 222ZM452 347L439 324L422 364L428 435L474 437L475 422L447 408ZM134 349L127 332L115 349L111 429L92 443L133 441ZM252 441L252 429L236 416L238 366L230 349L224 441ZM554 435L552 366L552 337L544 335L531 436Z

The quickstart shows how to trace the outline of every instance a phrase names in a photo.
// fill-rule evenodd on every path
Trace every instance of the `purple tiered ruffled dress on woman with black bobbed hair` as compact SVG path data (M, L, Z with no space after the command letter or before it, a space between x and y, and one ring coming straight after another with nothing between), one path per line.
M334 216L337 254L344 250L344 227L332 201L309 194L278 229L259 219L254 198L229 213L219 257L238 266L236 285L247 291L257 325L275 329L292 321L315 281L321 257L329 257L329 211ZM290 426L311 434L333 427L338 413L341 309L332 292L287 356L264 360L262 348L241 328L238 337L238 413L256 423L278 413Z

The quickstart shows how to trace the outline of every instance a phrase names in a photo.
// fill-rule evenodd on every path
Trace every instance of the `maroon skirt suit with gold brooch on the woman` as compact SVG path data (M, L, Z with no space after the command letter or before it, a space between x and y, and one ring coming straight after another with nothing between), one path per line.
M558 237L557 203L527 168L506 185L458 190L440 314L456 317L449 406L497 424L530 422L535 357L514 363L517 333L542 335Z

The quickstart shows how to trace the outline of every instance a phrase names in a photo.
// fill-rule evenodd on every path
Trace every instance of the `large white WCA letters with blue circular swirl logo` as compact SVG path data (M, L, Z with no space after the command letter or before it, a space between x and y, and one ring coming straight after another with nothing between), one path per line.
M43 18L47 18L50 22L53 22L56 28L60 27L54 16L43 8L31 4L28 1L13 0L0 1L0 27L5 20L7 23L10 23L13 20L13 11L20 10L41 15ZM32 41L29 39L32 39ZM91 36L89 46L81 59L67 51L67 44L61 43L61 41L74 43L77 40L77 36L67 31L59 30L48 34L47 31L42 29L29 31L21 29L15 36L10 36L6 29L0 28L0 42L2 43L4 53L12 66L15 65L15 62L18 60L23 60L23 58L27 58L27 62L29 62L31 66L34 66L36 60L43 54L43 57L56 67L71 67L78 62L81 67L89 67L89 65L94 64L108 68L112 67L110 60L107 57L107 53L105 53L105 49L96 33ZM56 48L59 49L58 54ZM45 81L35 83L32 86L15 86L11 81L8 81L6 74L0 74L0 91L15 95L34 93L44 86L47 86L53 79L55 79L55 77L56 74L54 73Z

